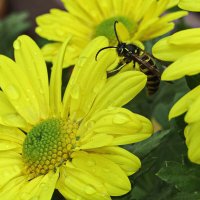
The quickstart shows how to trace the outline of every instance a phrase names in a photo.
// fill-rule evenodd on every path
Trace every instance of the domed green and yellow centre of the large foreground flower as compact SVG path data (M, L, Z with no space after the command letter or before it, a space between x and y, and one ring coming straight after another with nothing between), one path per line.
M48 119L32 128L23 144L25 173L34 178L66 162L76 146L78 124Z

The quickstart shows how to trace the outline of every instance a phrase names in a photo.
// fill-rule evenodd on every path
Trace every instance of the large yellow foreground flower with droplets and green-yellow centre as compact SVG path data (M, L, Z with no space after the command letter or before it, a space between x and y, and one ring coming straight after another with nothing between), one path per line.
M152 134L148 119L121 108L145 86L141 72L106 78L113 52L93 40L80 55L63 98L62 46L50 83L42 53L28 37L14 42L15 62L0 56L0 196L5 200L109 200L131 189L140 160L118 145Z

